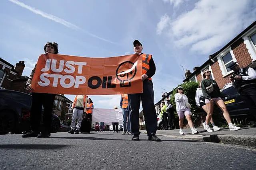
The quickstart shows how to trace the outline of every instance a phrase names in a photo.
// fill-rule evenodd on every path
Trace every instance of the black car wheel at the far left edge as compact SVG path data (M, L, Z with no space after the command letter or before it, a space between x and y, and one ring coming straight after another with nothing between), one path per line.
M14 113L8 110L0 113L0 135L5 135L15 130Z

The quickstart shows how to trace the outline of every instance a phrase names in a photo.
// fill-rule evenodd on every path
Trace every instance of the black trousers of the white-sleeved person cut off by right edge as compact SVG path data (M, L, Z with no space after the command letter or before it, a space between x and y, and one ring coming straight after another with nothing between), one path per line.
M248 87L241 88L239 93L250 108L251 114L256 118L256 85L248 85Z

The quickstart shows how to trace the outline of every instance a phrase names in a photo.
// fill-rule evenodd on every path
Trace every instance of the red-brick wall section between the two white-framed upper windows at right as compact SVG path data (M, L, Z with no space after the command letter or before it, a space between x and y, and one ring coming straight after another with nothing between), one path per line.
M240 67L246 67L252 62L252 58L250 57L248 49L246 48L242 38L238 39L238 41L232 44L231 49L233 50L236 61Z

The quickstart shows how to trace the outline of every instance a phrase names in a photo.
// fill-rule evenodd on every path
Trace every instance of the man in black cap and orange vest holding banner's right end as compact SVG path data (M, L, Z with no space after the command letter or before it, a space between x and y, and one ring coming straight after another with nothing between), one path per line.
M140 135L140 123L139 123L139 109L140 109L140 98L142 102L142 108L145 118L146 131L148 133L148 140L150 141L161 141L156 137L157 129L157 115L154 106L154 90L152 83L152 76L156 72L156 65L152 58L152 55L142 53L142 44L140 41L135 40L133 42L133 49L135 54L142 57L142 76L143 81L143 93L128 94L129 100L129 111L131 120L131 130L134 136L133 141L139 140Z

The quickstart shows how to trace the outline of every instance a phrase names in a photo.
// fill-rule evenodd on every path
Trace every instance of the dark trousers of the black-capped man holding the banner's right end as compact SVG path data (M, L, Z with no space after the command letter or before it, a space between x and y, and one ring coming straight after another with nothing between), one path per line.
M148 135L154 135L157 129L157 115L154 106L153 83L151 80L143 81L143 93L128 94L131 130L134 135L140 134L140 99L142 102L146 131Z

